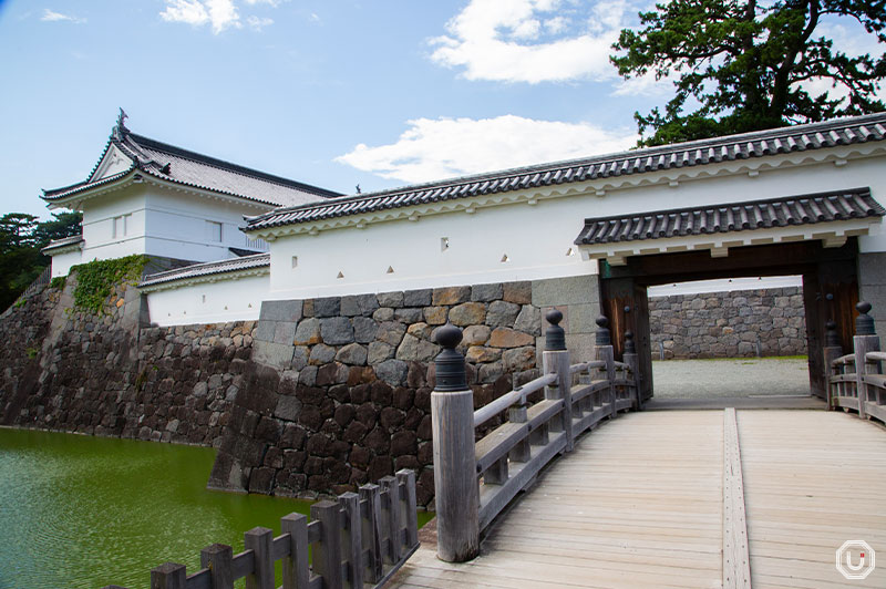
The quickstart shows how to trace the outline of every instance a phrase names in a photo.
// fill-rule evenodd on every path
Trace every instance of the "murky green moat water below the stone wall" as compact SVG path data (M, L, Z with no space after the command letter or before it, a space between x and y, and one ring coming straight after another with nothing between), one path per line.
M147 588L166 561L307 514L309 503L206 490L212 448L0 428L0 589Z

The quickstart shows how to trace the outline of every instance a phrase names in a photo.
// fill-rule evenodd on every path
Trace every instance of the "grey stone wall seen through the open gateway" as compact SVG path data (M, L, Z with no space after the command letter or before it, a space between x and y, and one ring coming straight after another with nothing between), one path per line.
M650 298L649 327L656 360L806 353L800 287Z

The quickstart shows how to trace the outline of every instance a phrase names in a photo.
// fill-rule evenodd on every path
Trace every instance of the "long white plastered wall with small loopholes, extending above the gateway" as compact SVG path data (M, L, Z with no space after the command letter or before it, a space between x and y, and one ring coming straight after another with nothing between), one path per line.
M574 252L577 249L573 240L587 217L856 187L870 187L874 198L886 204L886 157L879 154L853 159L851 149L763 158L751 162L754 169L749 169L751 164L729 163L641 174L627 178L643 183L640 186L588 184L578 194L540 198L534 206L527 204L532 194L526 192L517 195L523 197L521 203L478 207L473 214L419 215L418 220L321 229L313 236L280 236L270 244L270 298L302 299L595 273L596 261L567 256L570 248ZM791 157L802 157L802 165L775 167ZM574 188L564 185L560 189ZM598 190L604 194L598 196ZM480 204L483 198L473 200ZM442 238L449 238L449 248L442 248ZM863 251L886 250L885 240L882 236L863 238L861 247ZM504 256L506 262L502 262ZM393 272L388 272L389 267ZM339 273L342 278L338 278Z

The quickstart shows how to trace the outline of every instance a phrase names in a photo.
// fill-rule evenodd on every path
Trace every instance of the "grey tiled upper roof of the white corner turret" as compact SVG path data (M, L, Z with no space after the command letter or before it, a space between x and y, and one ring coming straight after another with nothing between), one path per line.
M135 169L183 186L247 198L272 206L301 205L341 196L340 193L265 174L136 135L122 123L113 128L102 158L112 145L133 161L133 165L128 169L93 182L93 176L99 167L96 164L85 182L43 190L43 198L49 202L59 200L109 184ZM100 158L100 163L102 158Z

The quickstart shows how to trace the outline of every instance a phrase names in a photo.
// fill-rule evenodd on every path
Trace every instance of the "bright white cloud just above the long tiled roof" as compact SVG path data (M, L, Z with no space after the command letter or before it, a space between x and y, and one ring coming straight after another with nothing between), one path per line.
M337 162L383 178L420 183L493 169L586 157L631 147L637 134L589 123L495 118L416 118L396 143L360 144Z

